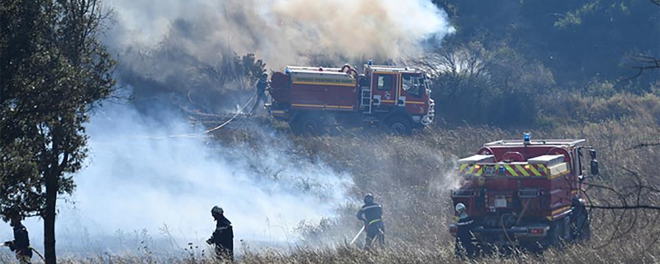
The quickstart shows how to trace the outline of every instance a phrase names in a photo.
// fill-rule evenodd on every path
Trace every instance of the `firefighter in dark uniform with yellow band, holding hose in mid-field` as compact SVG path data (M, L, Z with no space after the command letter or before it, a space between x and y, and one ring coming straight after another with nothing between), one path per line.
M366 243L364 248L371 248L373 241L378 237L378 242L385 247L385 226L383 225L383 208L373 202L371 193L364 195L364 206L358 210L358 219L364 222L366 230Z

